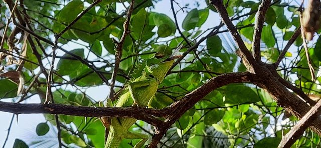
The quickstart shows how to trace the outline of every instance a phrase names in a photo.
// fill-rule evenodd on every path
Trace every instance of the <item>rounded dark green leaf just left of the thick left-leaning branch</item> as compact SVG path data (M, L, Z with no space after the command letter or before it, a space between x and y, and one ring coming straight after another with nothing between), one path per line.
M211 56L217 56L222 50L222 41L219 36L212 36L206 40L206 47Z

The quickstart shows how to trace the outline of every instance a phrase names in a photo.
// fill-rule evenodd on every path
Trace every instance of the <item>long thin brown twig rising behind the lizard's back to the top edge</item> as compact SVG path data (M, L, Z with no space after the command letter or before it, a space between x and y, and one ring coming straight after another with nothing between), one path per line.
M134 8L134 3L135 3L135 1L131 0L129 9L127 11L126 20L125 20L124 25L123 25L124 32L123 32L119 42L116 43L117 44L116 45L116 53L115 53L116 62L115 62L114 71L113 71L113 73L111 75L110 94L109 94L109 98L111 100L113 100L113 101L115 100L115 98L114 98L114 86L115 86L116 76L117 76L117 73L118 73L119 64L120 64L120 61L121 61L122 47L123 47L123 44L124 44L124 41L125 41L125 38L126 38L127 34L130 33L130 31L129 31L129 23L130 23L131 14L132 14L132 11L133 11L133 8Z

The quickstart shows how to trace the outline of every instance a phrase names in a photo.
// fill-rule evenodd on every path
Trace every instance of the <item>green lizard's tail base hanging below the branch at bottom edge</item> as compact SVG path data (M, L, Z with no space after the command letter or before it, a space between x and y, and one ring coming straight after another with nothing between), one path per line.
M119 135L120 134L120 135ZM118 148L123 137L121 133L116 133L114 128L109 128L108 138L105 144L105 148Z

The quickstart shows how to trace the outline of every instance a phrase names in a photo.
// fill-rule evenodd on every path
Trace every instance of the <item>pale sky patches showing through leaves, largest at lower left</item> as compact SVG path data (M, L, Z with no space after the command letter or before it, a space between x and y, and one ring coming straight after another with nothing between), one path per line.
M184 7L186 3L191 3L194 1L178 0L176 2L178 2L181 7ZM207 5L205 4L204 1L197 1L197 2L200 3L199 9L204 9L207 7ZM193 4L194 3L190 4L191 8L194 7ZM175 6L176 10L179 10L179 7L177 7L175 4L174 4L174 6ZM117 5L117 11L121 11L122 9L123 9L123 7L121 4ZM190 9L188 9L188 10L190 10ZM152 11L158 12L158 13L164 13L164 14L168 15L169 17L171 17L172 20L174 21L172 10L170 9L170 1L169 0L163 0L163 1L156 3L155 9L152 9ZM182 29L181 24L183 22L184 17L186 16L186 14L187 14L187 11L185 11L185 13L183 13L182 11L177 13L178 24L180 25L181 29ZM212 11L210 11L209 17L211 17L213 19L208 19L204 23L204 25L202 26L203 29L207 29L207 28L216 26L220 22L220 18L218 17L218 15L213 13ZM71 49L77 48L77 46L79 46L79 45L75 44L75 43L68 43L67 45L64 45L63 48L71 50ZM80 48L82 48L82 47L80 47ZM58 52L58 55L60 55L60 54L62 55L63 53ZM58 60L56 60L56 62L57 61ZM102 94L101 92L104 92L104 94ZM108 93L109 93L109 88L106 85L99 86L99 87L93 87L93 88L89 88L86 90L86 94L88 96L90 96L91 98L94 98L95 100L104 100L107 97ZM11 99L2 99L1 101L11 102ZM35 95L22 103L40 103L40 100L39 100L38 96ZM9 127L11 118L12 118L11 113L0 112L0 146L2 146L4 144L5 138L7 137L7 133L8 133L7 129ZM15 116L14 121L11 126L11 129L10 129L9 136L8 136L8 141L7 141L5 147L12 147L16 138L19 138L19 139L25 141L27 144L28 144L28 141L37 139L37 135L36 135L35 130L36 130L36 126L41 122L46 122L43 114L20 114L18 116L18 122L17 122L17 116ZM53 127L53 128L55 128L55 127ZM54 133L56 131L56 129L53 129L53 128L51 127L51 130L53 130L53 133ZM49 131L48 134L52 134L52 132ZM50 137L54 137L54 139L51 139L51 140L57 139L55 137L55 135L48 135L48 134L45 135L45 137L47 139L49 139ZM38 137L38 138L40 138L40 137ZM58 145L55 145L55 146L58 147ZM53 146L53 147L55 147L55 146Z

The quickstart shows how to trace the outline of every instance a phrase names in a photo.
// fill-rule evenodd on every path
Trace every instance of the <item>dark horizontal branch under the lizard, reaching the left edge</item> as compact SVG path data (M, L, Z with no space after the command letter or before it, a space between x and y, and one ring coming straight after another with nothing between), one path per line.
M18 104L0 101L0 111L14 114L49 113L84 117L131 117L146 121L153 126L160 126L163 121L153 117L162 115L155 109L141 107L85 107L64 104ZM140 113L137 113L140 112Z

